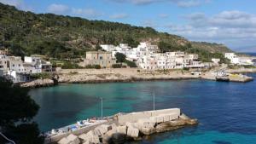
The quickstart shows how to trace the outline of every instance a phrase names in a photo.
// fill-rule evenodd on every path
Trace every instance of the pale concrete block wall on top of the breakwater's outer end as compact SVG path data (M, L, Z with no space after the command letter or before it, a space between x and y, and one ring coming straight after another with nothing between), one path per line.
M135 123L137 122L138 119L156 117L166 113L173 113L179 116L181 111L179 108L171 108L171 109L146 111L146 112L132 112L124 115L119 115L118 122L119 124L125 124L127 122Z

